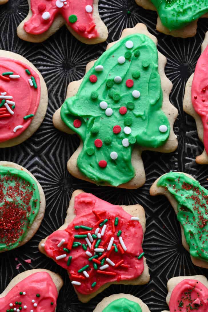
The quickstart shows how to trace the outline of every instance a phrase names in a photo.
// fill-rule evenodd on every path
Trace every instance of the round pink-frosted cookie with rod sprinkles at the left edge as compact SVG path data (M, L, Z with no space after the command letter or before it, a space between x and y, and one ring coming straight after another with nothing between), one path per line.
M42 123L47 105L47 87L35 66L0 50L0 148L27 140Z

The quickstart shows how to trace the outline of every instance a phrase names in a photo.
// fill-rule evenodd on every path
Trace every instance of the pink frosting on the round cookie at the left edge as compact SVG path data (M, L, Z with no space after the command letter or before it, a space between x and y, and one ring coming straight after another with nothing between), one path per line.
M31 75L25 71L28 69ZM12 79L9 75L3 76L3 73L13 72L13 75L19 75L19 78ZM31 76L35 78L37 89L30 86L28 79ZM6 92L6 95L3 95ZM15 102L8 104L14 114L8 111L2 101L4 97L11 97L5 101ZM32 118L23 119L23 117L35 115L40 102L40 79L38 74L26 64L10 58L0 57L0 142L4 142L19 136L30 125ZM6 102L5 102L6 103ZM16 126L23 126L21 129L14 129Z

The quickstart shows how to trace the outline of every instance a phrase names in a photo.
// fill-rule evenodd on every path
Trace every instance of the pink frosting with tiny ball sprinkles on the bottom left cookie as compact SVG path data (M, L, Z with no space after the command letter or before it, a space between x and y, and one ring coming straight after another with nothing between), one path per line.
M20 292L26 294L20 295ZM40 296L37 297L37 294ZM34 312L54 312L57 297L58 292L51 276L47 272L37 272L21 280L5 297L0 298L0 310L19 309L21 306L22 310L20 311L25 312L31 310ZM32 300L35 301L32 302ZM16 304L17 301L18 303L21 302L21 305ZM53 304L51 304L52 302ZM34 304L37 304L37 306L34 306Z

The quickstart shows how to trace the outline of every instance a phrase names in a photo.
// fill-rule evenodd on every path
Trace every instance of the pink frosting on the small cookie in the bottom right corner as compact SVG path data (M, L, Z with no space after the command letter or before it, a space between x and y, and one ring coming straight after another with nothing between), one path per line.
M198 280L182 280L170 297L170 312L207 312L208 289Z

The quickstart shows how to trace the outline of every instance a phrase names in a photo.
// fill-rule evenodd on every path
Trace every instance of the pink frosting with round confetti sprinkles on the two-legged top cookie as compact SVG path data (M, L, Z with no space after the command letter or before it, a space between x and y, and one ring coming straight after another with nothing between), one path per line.
M93 19L93 11L88 13L85 9L87 5L93 8L93 0L30 0L33 16L24 24L24 30L33 35L39 35L46 32L53 24L54 18L58 14L62 14L67 24L78 33L79 36L91 39L99 37L95 29L95 21ZM62 7L58 7L63 3ZM44 12L49 12L50 17L43 19ZM76 22L69 22L69 17L76 15Z

